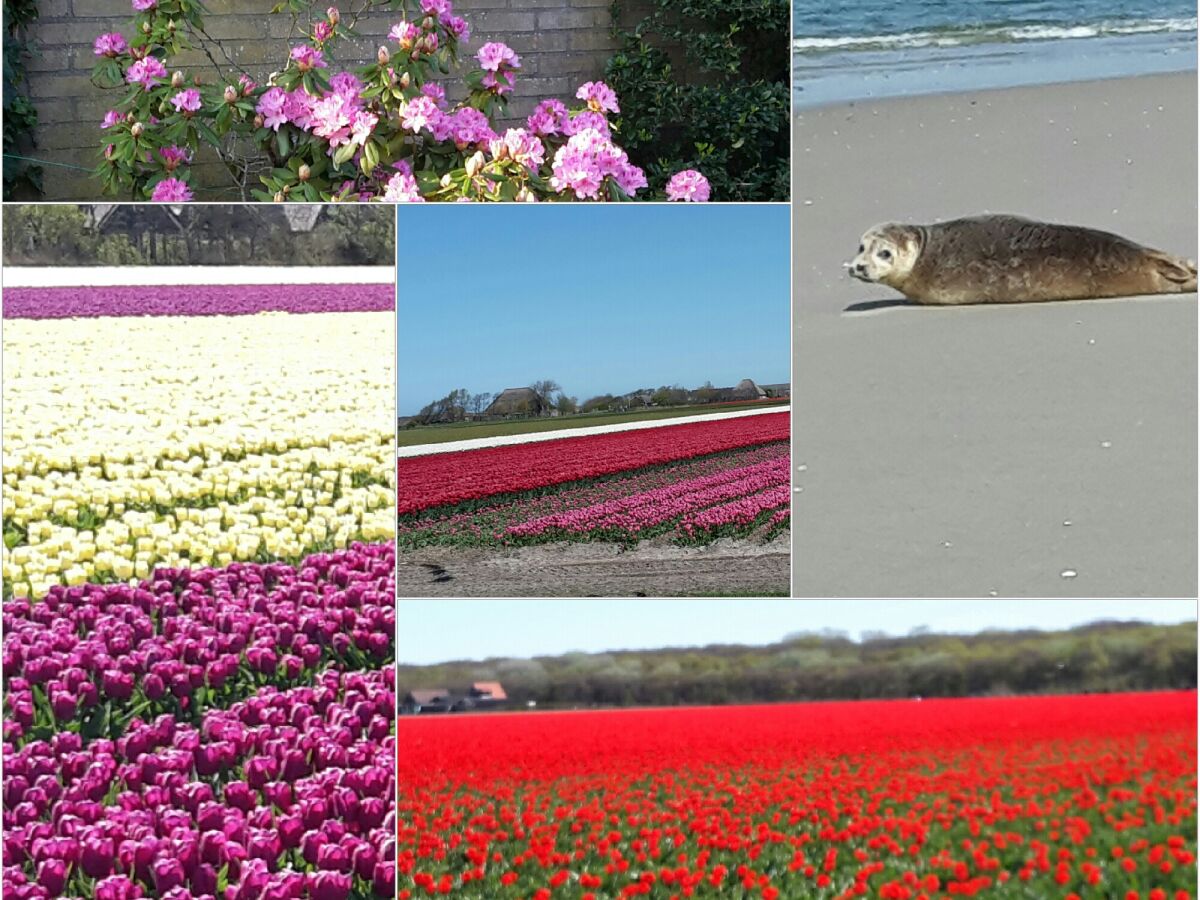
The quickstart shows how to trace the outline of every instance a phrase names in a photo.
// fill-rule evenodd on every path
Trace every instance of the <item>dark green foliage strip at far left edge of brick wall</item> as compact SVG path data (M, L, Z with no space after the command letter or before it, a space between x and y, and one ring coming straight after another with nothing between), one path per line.
M32 144L37 108L26 94L25 62L34 54L25 29L37 20L37 0L4 4L4 199L18 190L42 191L42 167L14 158ZM10 156L12 154L13 156Z

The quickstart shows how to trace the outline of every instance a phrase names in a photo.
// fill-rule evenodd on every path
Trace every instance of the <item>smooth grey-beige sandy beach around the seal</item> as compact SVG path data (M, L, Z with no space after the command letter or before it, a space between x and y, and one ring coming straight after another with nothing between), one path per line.
M1194 72L796 116L797 595L1195 596L1195 294L918 308L841 268L979 212L1194 258L1195 136Z

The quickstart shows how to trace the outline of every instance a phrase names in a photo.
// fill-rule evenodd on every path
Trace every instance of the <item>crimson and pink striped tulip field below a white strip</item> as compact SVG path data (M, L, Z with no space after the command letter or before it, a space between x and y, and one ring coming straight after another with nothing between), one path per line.
M403 457L397 542L769 540L791 506L787 413Z

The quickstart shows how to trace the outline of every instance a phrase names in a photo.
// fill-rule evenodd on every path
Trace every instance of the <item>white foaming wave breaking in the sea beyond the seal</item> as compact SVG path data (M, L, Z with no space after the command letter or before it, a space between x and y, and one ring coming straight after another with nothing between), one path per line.
M792 47L798 53L892 50L920 47L962 47L980 43L1018 43L1020 41L1061 41L1117 35L1172 34L1195 30L1195 17L1141 22L1097 22L1084 25L983 25L979 28L905 31L896 35L796 37L792 38Z

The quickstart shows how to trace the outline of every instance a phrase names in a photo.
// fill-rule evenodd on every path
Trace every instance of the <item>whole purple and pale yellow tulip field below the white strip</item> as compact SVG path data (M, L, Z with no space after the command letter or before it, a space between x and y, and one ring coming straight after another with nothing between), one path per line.
M6 898L395 896L392 307L5 292Z

